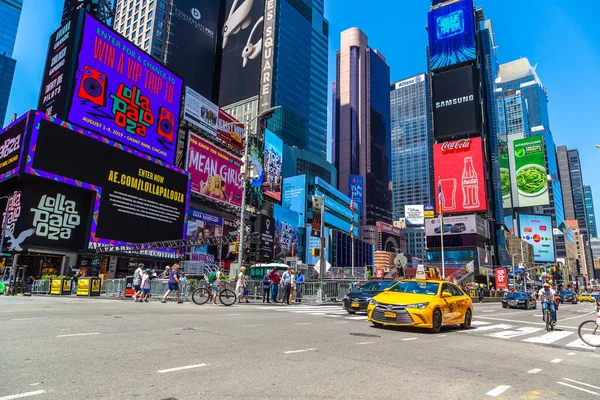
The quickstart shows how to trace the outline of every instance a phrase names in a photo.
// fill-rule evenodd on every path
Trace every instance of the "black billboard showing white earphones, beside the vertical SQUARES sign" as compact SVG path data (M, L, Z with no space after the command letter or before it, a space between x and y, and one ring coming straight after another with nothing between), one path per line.
M265 1L238 3L225 2L219 106L259 94Z

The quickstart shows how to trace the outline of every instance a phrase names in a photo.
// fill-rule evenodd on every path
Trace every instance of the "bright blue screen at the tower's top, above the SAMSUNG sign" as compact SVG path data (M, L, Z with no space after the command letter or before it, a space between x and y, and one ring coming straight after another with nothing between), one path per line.
M473 0L462 0L430 11L428 25L431 70L477 57Z

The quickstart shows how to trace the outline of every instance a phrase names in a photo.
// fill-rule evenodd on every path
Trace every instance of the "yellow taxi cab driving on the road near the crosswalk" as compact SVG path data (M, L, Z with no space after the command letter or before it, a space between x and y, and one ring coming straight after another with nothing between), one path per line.
M471 327L473 303L455 284L439 279L411 279L373 297L367 307L375 327L413 326L437 333L442 326Z

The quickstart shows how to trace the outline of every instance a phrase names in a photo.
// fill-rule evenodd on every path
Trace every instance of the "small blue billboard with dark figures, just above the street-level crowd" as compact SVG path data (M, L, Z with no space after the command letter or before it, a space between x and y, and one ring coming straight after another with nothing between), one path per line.
M298 257L298 214L279 204L273 205L275 220L274 259L284 260L286 257Z

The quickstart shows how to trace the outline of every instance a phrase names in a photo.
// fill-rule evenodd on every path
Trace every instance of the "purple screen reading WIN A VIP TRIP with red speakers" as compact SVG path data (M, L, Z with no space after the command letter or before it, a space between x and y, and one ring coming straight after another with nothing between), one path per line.
M170 164L182 80L86 14L68 121Z

